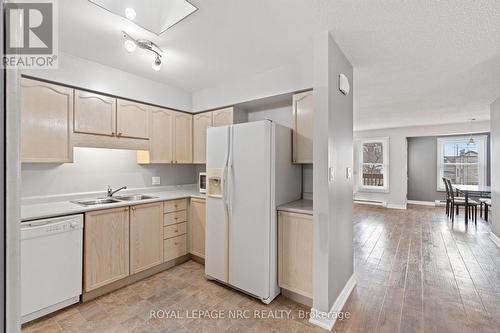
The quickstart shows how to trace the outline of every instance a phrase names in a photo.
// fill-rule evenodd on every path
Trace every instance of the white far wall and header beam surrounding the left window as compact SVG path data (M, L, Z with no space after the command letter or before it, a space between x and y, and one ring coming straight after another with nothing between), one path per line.
M406 194L408 189L407 181L407 137L434 136L434 135L453 135L464 133L484 133L490 131L490 123L475 122L433 125L433 126L414 126L387 128L369 131L354 132L354 139L389 137L389 191L381 192L359 192L355 186L355 198L361 200L375 200L386 202L390 208L405 208ZM354 149L354 179L358 179L358 151L357 145ZM355 182L357 185L357 182Z

